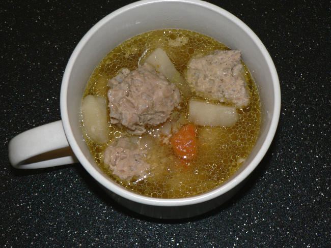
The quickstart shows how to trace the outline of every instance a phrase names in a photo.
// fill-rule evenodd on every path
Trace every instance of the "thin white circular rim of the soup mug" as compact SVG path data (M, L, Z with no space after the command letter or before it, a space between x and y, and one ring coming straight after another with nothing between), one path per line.
M217 12L220 15L225 16L226 18L230 19L232 22L234 22L236 25L240 26L247 35L251 37L251 39L254 41L254 43L258 46L259 50L263 54L265 60L267 61L267 66L270 70L272 82L273 82L273 90L274 90L274 105L273 105L273 115L271 117L270 126L268 128L267 135L263 141L263 144L261 148L258 150L256 156L253 158L253 160L250 162L249 165L246 166L246 168L243 169L237 176L235 176L232 179L228 179L226 183L223 183L216 187L213 190L210 190L208 192L205 192L200 195L196 196L190 196L185 198L173 198L173 199L164 199L164 198L152 198L148 196L143 196L137 193L133 193L124 187L122 187L120 184L108 180L103 176L99 171L97 171L96 168L90 164L90 162L85 157L84 153L79 148L78 143L76 142L76 139L74 138L73 131L70 126L69 122L69 116L68 116L68 109L67 109L67 97L68 97L68 84L69 79L72 71L72 67L76 61L76 58L80 51L84 48L85 44L89 41L89 39L97 32L97 30L107 23L109 20L112 20L117 15L120 15L123 12L126 12L130 10L131 8L136 8L141 5L145 4L155 4L157 2L173 2L173 3L185 3L185 4L192 4L197 5L202 8L207 8L211 11ZM68 143L70 144L71 149L74 151L77 159L81 163L82 166L88 171L88 173L97 180L103 187L105 187L107 190L114 192L115 194L124 197L128 200L147 204L147 205L154 205L154 206L184 206L184 205L192 205L197 204L201 202L205 202L211 199L214 199L220 195L223 195L233 188L236 187L240 182L242 182L247 176L251 174L251 172L257 167L257 165L261 162L262 158L265 156L265 153L267 152L272 139L274 137L274 134L277 130L279 117L280 117L280 107L281 107L281 92L280 92L280 84L279 84L279 78L277 75L277 71L275 69L275 66L273 64L273 61L266 50L265 46L261 42L261 40L257 37L257 35L253 32L253 30L247 26L244 22L242 22L239 18L231 14L230 12L224 10L223 8L220 8L218 6L215 6L213 4L200 1L200 0L142 0L135 3L131 3L129 5L126 5L118 10L115 10L114 12L106 15L101 20L99 20L95 25L93 25L89 31L82 37L82 39L79 41L79 43L76 45L74 51L72 52L68 64L66 66L62 85L61 85L61 94L60 94L60 109L61 109L61 117L63 122L63 128L66 134L66 137L68 139Z

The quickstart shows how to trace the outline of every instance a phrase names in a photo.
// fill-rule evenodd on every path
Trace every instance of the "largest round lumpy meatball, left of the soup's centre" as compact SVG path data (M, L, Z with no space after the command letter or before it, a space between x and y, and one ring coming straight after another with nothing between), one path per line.
M121 123L133 134L165 122L181 101L177 86L145 64L122 71L108 82L108 107L112 123Z

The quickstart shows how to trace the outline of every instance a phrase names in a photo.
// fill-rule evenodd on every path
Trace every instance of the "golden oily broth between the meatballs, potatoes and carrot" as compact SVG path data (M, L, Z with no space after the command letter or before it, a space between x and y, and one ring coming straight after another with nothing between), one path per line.
M109 52L93 72L84 97L92 94L107 97L107 80L117 75L120 69L134 70L139 59L161 47L167 52L181 75L185 74L192 56L206 55L217 49L229 48L214 39L188 30L162 29L148 32L123 42ZM102 170L119 184L142 195L156 198L180 198L194 196L214 189L225 182L240 167L256 142L260 128L260 100L256 85L245 68L245 79L250 91L251 103L238 109L239 120L232 127L197 127L198 155L189 162L176 157L171 145L162 142L150 143L146 162L152 166L150 175L143 180L132 178L128 183L114 176L102 163L102 154L107 145L123 136L132 136L124 128L111 125L111 138L107 144L94 144L85 136L96 162ZM180 85L182 103L180 110L174 110L173 118L186 125L187 105L191 98L201 98L191 92L188 85ZM215 101L216 103L216 101ZM109 119L109 117L108 117ZM84 130L84 123L82 123ZM141 137L149 140L158 135L157 127L149 129Z

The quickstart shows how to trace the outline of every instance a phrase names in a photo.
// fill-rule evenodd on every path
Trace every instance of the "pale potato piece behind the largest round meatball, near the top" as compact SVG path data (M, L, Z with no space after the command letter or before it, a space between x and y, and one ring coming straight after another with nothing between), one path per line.
M145 62L153 66L157 72L166 76L169 81L178 80L177 77L180 76L167 53L162 48L156 48L146 58Z

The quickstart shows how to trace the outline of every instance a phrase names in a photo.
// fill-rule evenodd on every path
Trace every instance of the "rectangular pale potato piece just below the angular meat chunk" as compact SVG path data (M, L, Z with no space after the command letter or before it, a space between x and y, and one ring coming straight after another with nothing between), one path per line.
M205 103L197 100L189 101L189 120L199 126L231 127L238 120L235 107Z

